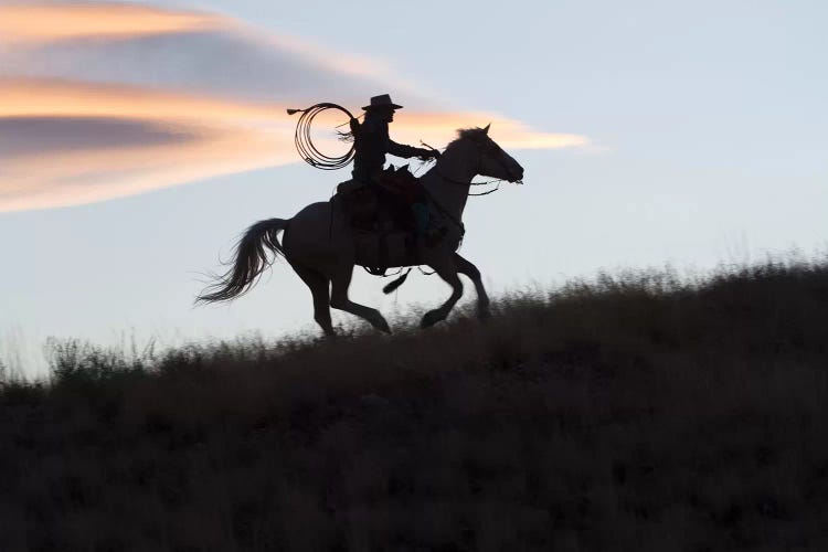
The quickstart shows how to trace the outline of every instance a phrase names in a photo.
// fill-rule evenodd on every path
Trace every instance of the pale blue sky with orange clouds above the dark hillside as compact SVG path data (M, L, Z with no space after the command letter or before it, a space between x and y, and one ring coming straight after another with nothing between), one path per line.
M284 263L229 306L192 301L250 224L348 178L294 149L285 108L317 102L389 93L412 145L492 124L526 168L465 213L495 295L826 250L828 4L481 6L0 0L0 360L41 371L50 337L316 331ZM449 293L383 284L357 273L351 296L393 319Z

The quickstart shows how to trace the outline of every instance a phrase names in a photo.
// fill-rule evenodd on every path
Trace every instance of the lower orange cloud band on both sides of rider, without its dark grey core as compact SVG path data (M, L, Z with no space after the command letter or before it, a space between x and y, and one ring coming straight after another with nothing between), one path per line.
M232 102L120 85L49 79L0 79L0 119L39 117L140 121L185 140L120 144L117 134L83 144L44 147L36 142L3 155L0 148L0 212L104 201L220 174L298 162L296 118L279 104ZM491 136L505 148L565 148L587 144L575 135L537 132L490 114L401 112L394 138L445 146L457 128L492 123ZM44 138L47 128L44 129ZM332 129L330 136L333 136ZM9 137L8 139L19 139ZM26 137L36 140L36 135ZM100 142L108 140L106 147ZM2 142L0 141L0 146ZM25 145L21 145L25 146ZM332 139L322 148L341 149ZM22 152L21 152L22 151Z

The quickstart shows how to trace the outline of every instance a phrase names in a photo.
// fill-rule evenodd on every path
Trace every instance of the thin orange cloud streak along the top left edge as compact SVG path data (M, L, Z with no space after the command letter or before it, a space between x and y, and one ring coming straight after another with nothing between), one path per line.
M0 6L0 42L134 38L225 26L226 18L119 3Z

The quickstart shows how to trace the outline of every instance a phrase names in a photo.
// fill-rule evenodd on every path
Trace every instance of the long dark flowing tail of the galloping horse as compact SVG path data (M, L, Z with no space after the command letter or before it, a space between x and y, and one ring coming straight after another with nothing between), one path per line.
M233 267L223 276L217 276L216 282L195 298L195 302L229 301L250 291L276 257L285 256L278 233L287 229L287 224L288 221L284 219L268 219L247 229L236 244ZM268 251L274 254L273 258L269 258Z

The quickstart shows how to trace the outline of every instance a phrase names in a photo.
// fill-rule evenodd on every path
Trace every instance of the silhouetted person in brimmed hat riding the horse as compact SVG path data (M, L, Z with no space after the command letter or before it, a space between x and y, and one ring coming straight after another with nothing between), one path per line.
M382 178L385 166L385 153L392 156L421 159L438 158L436 149L414 148L397 144L389 137L389 123L394 120L394 110L403 106L391 102L391 96L382 94L371 98L371 104L362 109L365 112L365 120L360 124L351 119L351 132L357 149L353 158L353 171L351 174L355 180L368 182L376 190ZM428 227L428 205L425 200L411 203L411 213L414 217L415 232L418 236L425 236Z

